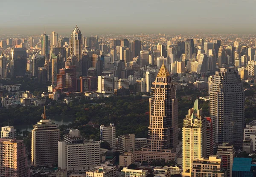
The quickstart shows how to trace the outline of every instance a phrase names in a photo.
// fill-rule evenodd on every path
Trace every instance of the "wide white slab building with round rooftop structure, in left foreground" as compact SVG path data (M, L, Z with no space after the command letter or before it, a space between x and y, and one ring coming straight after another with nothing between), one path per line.
M86 142L78 129L70 129L63 141L58 141L58 166L67 171L87 171L100 163L100 142Z

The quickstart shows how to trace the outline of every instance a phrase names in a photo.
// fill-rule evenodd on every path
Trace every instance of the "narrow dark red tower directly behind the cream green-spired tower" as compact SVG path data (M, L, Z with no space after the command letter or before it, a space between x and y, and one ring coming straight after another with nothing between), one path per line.
M213 127L212 127L212 119L211 117L205 117L206 124L207 124L207 130L206 130L206 138L207 138L207 144L206 144L206 157L208 158L210 155L213 154Z

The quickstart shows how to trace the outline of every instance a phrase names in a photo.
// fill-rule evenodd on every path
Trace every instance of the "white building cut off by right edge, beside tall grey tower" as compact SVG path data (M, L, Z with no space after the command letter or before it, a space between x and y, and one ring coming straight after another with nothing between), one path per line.
M252 140L253 151L256 150L256 120L248 123L244 128L244 140L250 138Z

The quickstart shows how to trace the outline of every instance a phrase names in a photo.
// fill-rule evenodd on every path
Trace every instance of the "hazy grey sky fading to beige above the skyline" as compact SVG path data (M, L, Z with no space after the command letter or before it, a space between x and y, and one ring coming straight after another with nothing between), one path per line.
M256 0L0 0L0 34L256 33Z

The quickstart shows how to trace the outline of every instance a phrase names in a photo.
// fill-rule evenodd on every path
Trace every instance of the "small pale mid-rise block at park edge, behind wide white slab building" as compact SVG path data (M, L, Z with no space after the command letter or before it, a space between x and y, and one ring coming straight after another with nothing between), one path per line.
M116 146L116 127L113 123L110 126L101 125L99 127L100 134L99 139L101 142L108 142L110 147L113 148Z

